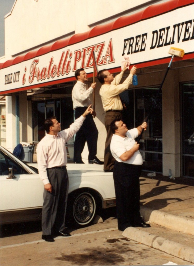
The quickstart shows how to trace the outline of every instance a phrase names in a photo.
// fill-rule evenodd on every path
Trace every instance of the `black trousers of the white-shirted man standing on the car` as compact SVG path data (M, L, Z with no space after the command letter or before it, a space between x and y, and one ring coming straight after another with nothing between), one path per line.
M80 117L88 107L77 107L75 109L75 119ZM93 116L88 114L82 126L77 131L74 142L74 163L81 161L81 153L83 152L85 142L88 145L88 160L96 158L97 153L98 130L94 123Z

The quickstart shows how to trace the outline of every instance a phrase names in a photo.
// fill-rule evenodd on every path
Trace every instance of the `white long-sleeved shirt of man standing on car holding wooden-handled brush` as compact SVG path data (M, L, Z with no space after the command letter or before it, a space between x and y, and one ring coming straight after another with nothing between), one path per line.
M87 84L77 81L72 90L73 109L77 107L88 107L91 104L90 95L93 92L93 88L87 89Z

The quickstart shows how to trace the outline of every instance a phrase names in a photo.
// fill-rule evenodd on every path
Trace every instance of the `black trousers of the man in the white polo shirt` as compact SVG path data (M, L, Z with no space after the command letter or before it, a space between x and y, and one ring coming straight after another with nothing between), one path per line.
M115 161L113 178L116 195L118 228L141 221L140 184L141 165Z

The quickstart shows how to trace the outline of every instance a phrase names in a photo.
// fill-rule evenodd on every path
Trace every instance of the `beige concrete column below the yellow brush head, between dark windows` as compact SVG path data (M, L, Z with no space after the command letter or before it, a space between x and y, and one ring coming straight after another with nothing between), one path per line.
M180 176L180 100L178 70L169 70L162 89L163 175Z

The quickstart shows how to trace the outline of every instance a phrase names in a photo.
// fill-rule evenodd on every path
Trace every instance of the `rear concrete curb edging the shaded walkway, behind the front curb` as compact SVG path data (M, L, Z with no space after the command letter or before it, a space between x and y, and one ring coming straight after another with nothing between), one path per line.
M194 235L193 219L152 210L143 206L140 207L140 213L145 221L157 223L158 225L165 226L176 231L181 231L185 234Z

